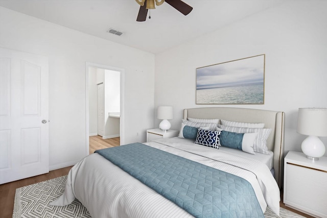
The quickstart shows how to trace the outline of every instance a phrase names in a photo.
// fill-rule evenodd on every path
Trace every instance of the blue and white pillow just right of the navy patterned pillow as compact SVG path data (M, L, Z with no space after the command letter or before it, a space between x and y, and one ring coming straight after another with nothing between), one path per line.
M238 149L246 153L255 154L253 150L254 140L258 133L236 133L221 131L219 135L222 147Z

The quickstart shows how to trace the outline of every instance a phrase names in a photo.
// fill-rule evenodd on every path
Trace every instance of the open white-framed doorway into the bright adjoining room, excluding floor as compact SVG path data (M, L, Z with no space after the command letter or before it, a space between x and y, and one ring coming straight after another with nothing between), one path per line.
M123 79L123 69L86 63L86 155L89 137L119 137L123 144Z

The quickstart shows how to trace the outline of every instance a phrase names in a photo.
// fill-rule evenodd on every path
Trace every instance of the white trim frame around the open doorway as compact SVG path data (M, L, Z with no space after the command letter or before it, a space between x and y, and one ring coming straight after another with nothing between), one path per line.
M95 67L95 68L101 68L101 69L108 69L108 70L114 70L114 71L119 71L120 72L120 89L121 89L121 117L120 117L120 144L124 144L125 142L125 131L124 131L124 126L125 126L125 104L124 104L124 96L125 96L125 69L123 68L118 68L118 67L113 67L113 66L108 66L108 65L103 65L103 64L97 64L97 63L91 63L91 62L85 62L85 108L86 108L86 119L85 119L85 124L86 124L86 148L85 148L85 154L86 156L89 155L89 108L88 108L88 81L89 81L89 72L88 68L89 67Z

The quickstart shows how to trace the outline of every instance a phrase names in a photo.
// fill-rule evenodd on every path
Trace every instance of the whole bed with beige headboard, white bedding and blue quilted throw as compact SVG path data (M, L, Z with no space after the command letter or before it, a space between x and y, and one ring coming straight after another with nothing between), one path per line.
M284 112L227 107L184 109L183 122L190 118L197 120L217 118L219 122L217 127L215 127L216 130L199 128L196 141L188 137L183 138L180 134L179 137L170 139L163 138L143 144L133 143L121 146L121 151L116 150L118 153L114 153L114 150L109 149L103 151L102 154L102 151L100 151L100 153L91 154L72 167L67 176L65 192L60 198L55 200L52 205L67 205L77 198L88 209L92 217L212 217L213 214L214 216L218 214L217 217L263 217L260 211L262 211L262 213L265 212L267 206L278 215L280 201L279 188L281 188L283 183ZM239 136L239 133L221 129L225 128L224 125L221 125L221 122L224 120L239 122L241 124L264 124L264 129L270 129L270 134L268 138L266 138L266 146L269 150L268 153L260 154L255 152L255 155L253 155L243 152L242 150L220 146L220 144L219 147L217 147L218 149L216 149L195 143L200 139L200 130L202 132L219 132L219 134L224 132ZM188 121L185 122L187 123ZM182 125L182 127L184 126ZM183 132L182 129L181 131ZM246 134L250 136L252 133ZM241 133L242 137L244 137L243 141L245 141L246 134ZM259 133L255 134L259 135ZM221 137L219 136L220 139L222 139ZM245 142L243 142L243 144L244 143ZM112 159L108 161L105 158L106 155L109 156L108 158ZM189 165L192 167L195 165L195 169L197 170L198 167L200 171L205 167L205 172L208 172L210 175L223 175L222 182L219 183L219 187L222 186L222 189L219 189L219 191L228 192L228 195L232 193L232 195L226 198L224 197L223 202L221 199L218 201L215 192L216 184L218 184L217 181L206 179L204 182L205 187L202 189L205 191L209 190L209 192L205 192L205 194L197 193L199 189L202 189L201 187L196 187L198 189L193 191L195 194L192 196L193 206L190 206L189 202L191 200L188 199L190 197L189 192L185 196L179 197L179 193L175 195L173 192L165 191L167 190L165 186L157 185L162 183L158 181L157 178L151 181L155 182L155 187L151 184L145 185L144 180L146 179L144 178L149 173L144 173L143 167L147 167L149 163L147 162L145 165L142 165L144 163L137 163L143 156L147 156L147 158L150 159L152 158L152 165L170 165L165 165L164 167L175 167L173 165L174 161L180 161L177 165L186 163L186 166L183 165L183 167L180 167L181 171L184 171L184 168ZM123 163L115 162L121 160ZM165 162L165 160L169 161L161 163ZM141 164L142 170L140 170L139 167L137 168L137 164ZM169 169L166 170L167 168L160 169L166 173L162 176L157 175L160 173L157 173L156 169L153 168L152 166L149 168L149 171L153 170L151 175L155 174L157 177L163 178L164 180L167 179L167 175L174 177L173 173L169 172ZM175 168L173 170L174 172ZM129 170L133 170L133 172L129 172ZM137 170L136 173L135 170ZM179 173L180 171L178 174ZM134 174L136 174L135 178L131 176ZM177 181L176 183L179 184L179 180L193 182L195 176L190 176L188 171L186 171L185 175L186 177L182 179L177 175L175 178ZM190 178L187 178L187 176ZM207 178L207 175L204 177ZM197 179L196 182L204 181L203 178ZM236 183L226 184L224 179L226 179L226 181L228 180L228 182L230 182L230 180L235 180ZM207 186L208 180L212 182L209 186ZM167 182L167 184L169 183L171 183L171 181ZM241 183L245 184L246 188L249 188L243 189L243 186L241 188L241 192L246 192L246 195L249 197L242 197L242 200L239 200L241 197L235 196L239 193L234 194L234 192L240 192L239 185ZM197 185L194 185L194 187L199 186L198 183L196 184ZM183 192L183 185L185 185L185 183L181 183L181 185L178 186L178 188L180 188L180 190L177 188L179 192ZM175 184L173 184L173 186L175 187ZM215 194L212 194L213 189L215 189ZM161 193L161 195L159 193ZM175 196L172 197L172 195ZM208 198L208 195L211 197L211 200L214 199L215 201L214 203L209 203L209 206L205 203L203 204L204 206L194 203L194 198L202 196L201 200L197 200L197 202L203 202L207 200L206 198ZM233 201L235 200L233 198L236 199L236 202L226 203L225 199ZM225 207L227 207L227 209L229 208L229 211L226 211ZM200 212L199 208L201 210ZM207 211L209 212L207 213Z

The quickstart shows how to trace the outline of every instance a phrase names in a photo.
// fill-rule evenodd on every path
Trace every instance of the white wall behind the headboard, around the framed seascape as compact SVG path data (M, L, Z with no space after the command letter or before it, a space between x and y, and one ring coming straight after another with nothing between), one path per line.
M294 1L232 23L155 56L155 107L221 106L284 111L285 152L301 151L300 107L327 107L327 1ZM266 54L264 105L196 105L196 68ZM173 96L173 97L172 97ZM155 119L155 126L160 120ZM321 137L327 145L327 137ZM327 152L325 153L327 156Z

